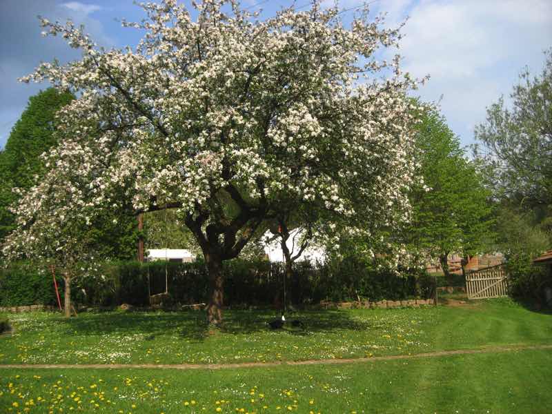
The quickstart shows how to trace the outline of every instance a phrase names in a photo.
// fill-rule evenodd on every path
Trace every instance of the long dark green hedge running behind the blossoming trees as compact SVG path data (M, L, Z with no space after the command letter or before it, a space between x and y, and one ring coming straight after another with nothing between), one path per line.
M149 304L150 295L168 290L178 304L208 302L209 282L204 262L106 262L101 277L77 280L72 298L78 304L135 306ZM283 264L235 259L225 263L224 303L228 306L281 304ZM58 277L60 295L63 282ZM289 302L297 305L322 301L401 300L433 296L434 278L425 272L403 269L401 275L375 270L355 259L328 264L297 263L286 280ZM52 277L32 264L15 264L0 272L0 306L56 304Z

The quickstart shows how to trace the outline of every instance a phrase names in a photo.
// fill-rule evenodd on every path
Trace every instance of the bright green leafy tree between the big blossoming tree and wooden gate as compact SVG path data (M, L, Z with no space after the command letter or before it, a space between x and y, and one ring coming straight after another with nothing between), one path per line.
M412 192L411 244L437 257L449 276L450 253L467 257L489 246L491 193L476 164L467 160L442 115L428 108L415 135L417 161L424 186Z

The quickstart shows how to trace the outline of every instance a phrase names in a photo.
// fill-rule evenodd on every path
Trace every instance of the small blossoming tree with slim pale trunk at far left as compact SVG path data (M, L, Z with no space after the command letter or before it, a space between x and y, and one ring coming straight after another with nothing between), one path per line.
M69 147L64 146L62 151ZM75 148L73 148L75 150ZM62 159L54 149L49 159ZM3 254L10 260L32 259L63 275L63 304L66 317L71 315L71 287L77 278L96 275L95 237L90 221L97 211L89 212L85 195L75 186L80 177L68 163L56 164L55 173L37 179L38 184L23 192L12 209L17 228L6 237ZM97 260L97 259L96 259Z

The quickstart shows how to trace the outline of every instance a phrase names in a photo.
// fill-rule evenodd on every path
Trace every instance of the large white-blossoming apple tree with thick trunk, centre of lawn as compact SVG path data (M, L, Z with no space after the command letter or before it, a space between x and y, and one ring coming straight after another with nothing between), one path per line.
M52 177L69 168L75 217L102 209L176 208L210 275L208 321L221 321L221 263L277 215L304 205L334 217L391 227L408 217L414 121L406 98L419 81L400 58L400 32L337 8L292 8L259 21L233 0L191 8L142 4L135 49L103 50L71 22L45 19L82 59L42 63L23 81L79 95L59 112ZM41 197L36 193L34 197ZM69 208L52 205L52 219ZM34 215L33 206L20 211ZM28 228L21 221L19 231Z

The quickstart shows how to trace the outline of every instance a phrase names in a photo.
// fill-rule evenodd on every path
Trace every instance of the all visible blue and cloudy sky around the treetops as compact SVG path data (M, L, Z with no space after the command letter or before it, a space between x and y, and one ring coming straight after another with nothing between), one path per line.
M261 4L259 4L261 3ZM246 0L244 7L274 14L289 0ZM297 0L304 6L308 0ZM328 5L333 1L327 1ZM440 101L442 112L462 144L473 143L473 128L484 121L486 107L509 95L520 70L538 74L543 51L552 46L551 0L375 0L374 13L387 12L387 25L408 16L400 54L413 75L431 75L420 90L427 101ZM339 8L362 4L338 1ZM257 6L256 6L257 5ZM349 19L354 10L344 12ZM102 46L135 46L140 32L121 28L117 19L141 19L132 0L1 0L0 1L0 147L26 108L28 97L43 85L27 85L17 78L32 72L41 61L79 57L61 39L41 37L37 15L50 20L70 18L83 24Z

